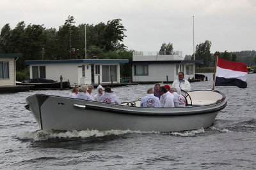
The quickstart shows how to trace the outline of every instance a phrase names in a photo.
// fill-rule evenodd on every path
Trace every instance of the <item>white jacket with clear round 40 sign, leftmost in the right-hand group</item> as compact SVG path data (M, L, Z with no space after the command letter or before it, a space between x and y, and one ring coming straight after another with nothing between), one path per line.
M148 94L142 97L140 106L144 108L160 108L161 104L158 97L154 96L154 94Z

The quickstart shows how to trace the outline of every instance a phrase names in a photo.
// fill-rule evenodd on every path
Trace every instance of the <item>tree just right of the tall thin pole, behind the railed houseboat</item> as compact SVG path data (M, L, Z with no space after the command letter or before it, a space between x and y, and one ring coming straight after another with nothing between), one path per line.
M214 64L213 57L211 55L211 41L206 40L204 43L196 45L195 59L203 60L204 64L196 64L198 67L209 67Z

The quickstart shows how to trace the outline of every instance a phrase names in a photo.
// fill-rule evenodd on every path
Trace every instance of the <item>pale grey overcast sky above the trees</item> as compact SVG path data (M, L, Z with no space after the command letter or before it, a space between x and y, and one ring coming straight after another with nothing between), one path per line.
M0 0L0 28L18 22L63 25L68 15L76 25L122 19L129 50L158 51L173 43L183 57L195 46L212 42L211 53L256 50L256 0Z

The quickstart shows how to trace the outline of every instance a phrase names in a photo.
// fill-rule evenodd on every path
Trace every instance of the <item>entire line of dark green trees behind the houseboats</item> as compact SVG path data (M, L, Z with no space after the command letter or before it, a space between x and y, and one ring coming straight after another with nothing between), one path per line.
M14 29L10 24L4 25L0 34L0 53L22 53L17 60L17 71L28 73L25 60L61 60L76 57L77 59L129 59L132 60L132 50L128 50L123 40L126 29L121 19L109 20L106 24L74 25L74 17L68 16L59 29L47 29L42 25L19 22ZM85 41L86 27L86 41ZM86 43L86 48L85 48ZM159 53L172 51L172 43L160 45ZM211 53L211 41L196 45L195 59L204 63L196 67L213 67L214 56L223 59L255 64L256 52L215 52ZM186 55L185 60L191 60L192 55ZM120 76L131 76L131 64L120 64Z

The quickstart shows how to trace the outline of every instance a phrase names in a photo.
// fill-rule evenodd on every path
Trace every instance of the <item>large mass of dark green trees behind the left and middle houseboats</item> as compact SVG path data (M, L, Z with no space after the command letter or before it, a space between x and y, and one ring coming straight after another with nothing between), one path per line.
M85 27L87 58L93 56L99 59L118 58L115 51L125 50L124 40L126 29L121 19L109 20L107 24L100 22L97 25L74 25L75 18L68 16L58 31L54 28L46 29L44 25L27 27L24 21L19 22L14 29L9 24L4 25L0 34L0 53L22 53L17 60L17 71L25 67L25 60L58 60L70 59L71 49L75 55L85 55ZM106 58L105 58L106 57Z

